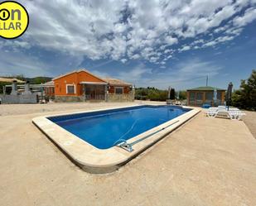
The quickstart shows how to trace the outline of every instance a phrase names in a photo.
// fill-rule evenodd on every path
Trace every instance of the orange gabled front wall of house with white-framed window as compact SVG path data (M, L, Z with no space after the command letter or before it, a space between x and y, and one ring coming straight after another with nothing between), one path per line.
M94 77L85 71L80 71L79 73L72 73L61 77L60 79L55 79L55 95L56 96L80 96L83 95L83 85L80 82L104 82L101 79ZM75 93L66 93L66 84L75 85Z

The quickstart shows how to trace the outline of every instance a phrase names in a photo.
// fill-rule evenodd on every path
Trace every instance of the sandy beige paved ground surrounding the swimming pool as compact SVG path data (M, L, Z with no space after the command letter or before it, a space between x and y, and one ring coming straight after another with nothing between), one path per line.
M199 113L109 175L80 170L31 123L118 105L131 103L27 105L27 113L0 105L0 205L256 205L256 140L242 121Z

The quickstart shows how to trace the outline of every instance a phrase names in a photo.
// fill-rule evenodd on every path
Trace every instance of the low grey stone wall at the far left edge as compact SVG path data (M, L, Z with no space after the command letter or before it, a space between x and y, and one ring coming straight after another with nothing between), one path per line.
M1 94L1 103L37 103L36 93L31 94Z

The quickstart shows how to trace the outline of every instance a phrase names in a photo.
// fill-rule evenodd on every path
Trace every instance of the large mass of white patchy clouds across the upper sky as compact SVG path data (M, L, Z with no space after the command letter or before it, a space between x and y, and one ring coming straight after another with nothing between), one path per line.
M172 49L175 53L204 48L205 42L195 39L199 35L210 36L211 29L215 34L227 30L224 38L227 35L234 38L241 33L242 26L256 18L254 0L20 2L29 12L30 26L22 41L13 46L23 49L41 46L91 60L141 59L157 64L166 58L159 55L163 50ZM242 15L238 16L240 12ZM230 23L221 26L227 20ZM211 36L207 46L223 42L217 40L220 36ZM183 46L182 41L186 40L194 42Z

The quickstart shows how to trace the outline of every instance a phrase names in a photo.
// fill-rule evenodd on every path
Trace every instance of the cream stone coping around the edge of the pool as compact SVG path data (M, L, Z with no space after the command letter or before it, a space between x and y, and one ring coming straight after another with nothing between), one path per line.
M162 104L143 105L162 106ZM34 117L32 119L32 122L36 125L36 127L41 130L41 132L46 135L46 137L51 139L51 141L53 141L56 146L60 148L61 151L64 151L65 155L67 155L70 160L75 162L76 165L79 165L81 169L89 173L104 174L117 170L120 166L125 165L129 160L132 160L134 157L142 153L142 151L147 150L147 148L157 143L157 141L162 140L163 137L166 137L177 127L180 127L183 123L196 116L197 113L200 113L200 109L183 106L183 108L191 108L191 111L129 139L127 141L128 143L141 139L142 137L145 137L147 135L151 135L153 132L157 132L163 127L166 127L164 130L157 132L151 137L144 139L143 141L139 141L137 144L133 145L133 151L131 152L125 151L119 146L113 146L109 149L104 150L98 149L90 145L88 142L80 139L80 137L76 137L74 134L58 126L55 122L51 122L48 117L65 116L79 113L91 113L98 111L100 112L118 108L134 108L140 106L142 106L142 104L128 107L93 109L75 113L59 113L54 115Z

